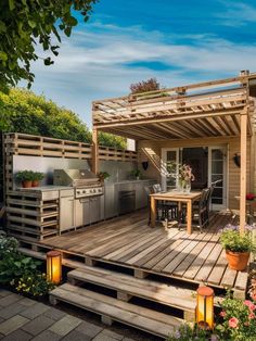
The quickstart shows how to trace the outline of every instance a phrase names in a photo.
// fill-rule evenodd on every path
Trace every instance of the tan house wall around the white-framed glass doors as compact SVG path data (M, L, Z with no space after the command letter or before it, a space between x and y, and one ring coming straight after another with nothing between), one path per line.
M207 146L228 146L228 209L239 209L239 201L234 198L240 194L240 168L234 164L233 156L235 153L240 153L240 137L217 137L217 138L204 138L204 139L190 139L190 140L141 140L138 141L137 148L139 153L139 166L141 162L149 161L149 167L146 171L141 171L146 178L154 178L161 181L161 171L157 167L161 165L161 152L162 148L185 148L185 147L207 147ZM152 157L144 154L143 149L149 149L152 153ZM254 155L254 153L252 153ZM251 176L253 164L251 164L251 138L247 140L247 192L256 189L256 173L254 177ZM152 159L152 160L151 160ZM158 166L157 166L158 165Z

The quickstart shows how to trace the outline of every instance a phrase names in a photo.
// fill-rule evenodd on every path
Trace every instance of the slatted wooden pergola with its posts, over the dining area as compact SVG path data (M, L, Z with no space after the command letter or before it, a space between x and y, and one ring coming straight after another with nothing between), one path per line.
M94 101L93 168L98 172L98 131L135 140L177 140L240 136L240 227L246 222L246 148L253 135L256 75L215 80Z

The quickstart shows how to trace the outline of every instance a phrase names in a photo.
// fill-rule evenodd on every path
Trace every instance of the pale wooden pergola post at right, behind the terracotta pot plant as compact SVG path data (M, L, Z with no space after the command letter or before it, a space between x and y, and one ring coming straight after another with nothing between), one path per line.
M240 115L240 233L244 233L246 225L246 151L247 151L247 111Z

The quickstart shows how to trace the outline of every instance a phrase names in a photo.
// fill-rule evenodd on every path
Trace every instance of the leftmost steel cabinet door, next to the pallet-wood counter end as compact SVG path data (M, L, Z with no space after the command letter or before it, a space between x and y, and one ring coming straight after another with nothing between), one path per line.
M75 200L74 197L60 200L60 230L64 231L75 227Z

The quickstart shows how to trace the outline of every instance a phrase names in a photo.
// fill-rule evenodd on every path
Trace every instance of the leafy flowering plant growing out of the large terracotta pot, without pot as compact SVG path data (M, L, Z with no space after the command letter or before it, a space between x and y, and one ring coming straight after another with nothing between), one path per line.
M256 250L256 245L252 239L252 229L254 226L245 226L244 235L241 235L239 231L239 226L227 225L220 235L220 242L223 249L231 252L251 252Z

